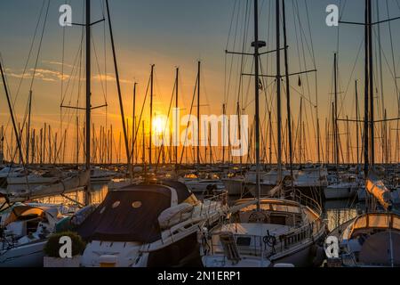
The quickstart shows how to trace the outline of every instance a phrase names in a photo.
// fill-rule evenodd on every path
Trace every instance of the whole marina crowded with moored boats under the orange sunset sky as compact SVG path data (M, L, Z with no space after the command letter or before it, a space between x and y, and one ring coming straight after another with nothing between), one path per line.
M217 56L182 31L134 68L132 3L61 2L30 3L30 37L0 30L0 267L400 266L396 1L337 1L315 31L316 0L220 0Z

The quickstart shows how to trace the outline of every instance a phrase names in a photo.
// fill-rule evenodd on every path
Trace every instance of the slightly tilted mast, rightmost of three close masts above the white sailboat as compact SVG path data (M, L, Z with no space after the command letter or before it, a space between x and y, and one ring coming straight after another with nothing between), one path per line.
M289 58L287 54L287 35L286 35L286 9L284 0L282 1L283 17L284 17L284 72L286 74L286 111L287 111L287 131L289 140L289 163L291 167L291 176L293 176L292 169L292 115L291 115L291 85L289 82ZM279 50L277 51L279 53ZM293 180L292 180L293 181Z

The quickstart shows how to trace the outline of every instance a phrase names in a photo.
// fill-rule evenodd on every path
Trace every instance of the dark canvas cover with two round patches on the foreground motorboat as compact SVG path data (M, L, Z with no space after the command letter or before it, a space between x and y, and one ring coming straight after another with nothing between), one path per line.
M77 232L84 240L143 243L159 240L161 230L157 218L171 207L171 191L169 186L159 184L130 185L109 191Z

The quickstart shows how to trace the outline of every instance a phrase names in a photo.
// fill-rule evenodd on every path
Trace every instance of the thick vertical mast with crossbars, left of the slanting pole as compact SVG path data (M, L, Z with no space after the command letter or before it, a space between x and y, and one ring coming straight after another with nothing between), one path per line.
M89 178L84 195L84 204L91 204L91 0L86 0L86 171ZM45 134L45 132L44 132Z

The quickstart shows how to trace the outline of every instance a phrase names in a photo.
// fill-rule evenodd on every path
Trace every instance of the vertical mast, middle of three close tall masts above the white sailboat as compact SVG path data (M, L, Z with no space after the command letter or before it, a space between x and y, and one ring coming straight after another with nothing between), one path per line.
M277 179L278 182L282 179L282 110L281 110L281 33L280 33L280 2L276 0L276 114L277 114Z

